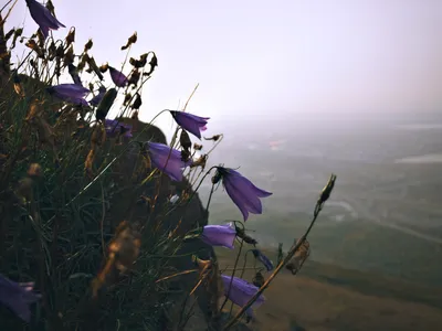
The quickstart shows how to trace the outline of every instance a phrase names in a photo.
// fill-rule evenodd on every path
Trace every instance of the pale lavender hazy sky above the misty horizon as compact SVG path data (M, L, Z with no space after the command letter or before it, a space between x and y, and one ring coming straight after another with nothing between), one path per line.
M4 0L3 0L4 1ZM141 119L185 103L212 121L442 109L441 0L53 0L98 65L155 51ZM24 0L9 26L35 31ZM127 70L128 73L128 70ZM162 124L171 125L165 115Z

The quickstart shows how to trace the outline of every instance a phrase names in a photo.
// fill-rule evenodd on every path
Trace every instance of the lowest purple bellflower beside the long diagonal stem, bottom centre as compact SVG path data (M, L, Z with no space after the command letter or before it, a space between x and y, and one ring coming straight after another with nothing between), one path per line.
M224 285L224 296L227 296L233 303L244 307L254 295L256 295L259 288L242 278L221 275L222 282ZM232 282L232 289L229 291L230 282ZM256 301L253 302L245 312L249 317L253 317L252 308L260 307L265 301L265 297L261 295Z

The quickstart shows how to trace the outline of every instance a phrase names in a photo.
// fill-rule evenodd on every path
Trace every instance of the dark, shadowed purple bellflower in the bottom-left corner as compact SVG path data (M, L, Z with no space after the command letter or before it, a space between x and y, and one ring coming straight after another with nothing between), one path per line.
M0 302L9 307L19 318L29 322L29 305L38 301L40 295L33 292L33 282L14 282L0 275Z

